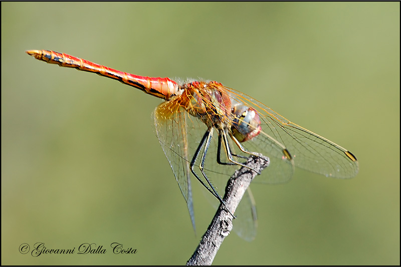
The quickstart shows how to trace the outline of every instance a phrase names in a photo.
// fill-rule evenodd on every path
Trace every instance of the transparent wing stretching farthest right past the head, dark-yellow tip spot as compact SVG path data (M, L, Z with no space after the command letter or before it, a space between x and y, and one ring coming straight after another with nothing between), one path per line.
M277 149L276 143L272 142L272 140L276 140L289 151L297 167L337 178L351 178L358 173L356 157L345 148L290 122L261 102L245 94L230 88L224 88L230 92L234 101L244 103L258 111L261 118L262 132L253 139L244 142L244 146L249 146L250 151L271 157L272 162L268 169L274 166L273 158L278 158L279 161L282 158L282 153ZM284 178L285 175L282 175L282 177ZM256 179L265 181L259 178L262 177L257 177ZM269 182L269 180L266 182Z

